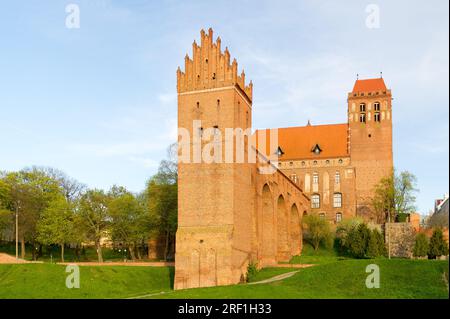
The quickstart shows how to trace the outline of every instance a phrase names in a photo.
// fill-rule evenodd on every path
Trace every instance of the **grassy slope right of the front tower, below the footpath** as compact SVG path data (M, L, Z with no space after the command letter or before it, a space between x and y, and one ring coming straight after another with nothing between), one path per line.
M380 267L381 287L365 286L366 265ZM154 298L448 298L448 261L343 260L301 269L279 282L175 291Z

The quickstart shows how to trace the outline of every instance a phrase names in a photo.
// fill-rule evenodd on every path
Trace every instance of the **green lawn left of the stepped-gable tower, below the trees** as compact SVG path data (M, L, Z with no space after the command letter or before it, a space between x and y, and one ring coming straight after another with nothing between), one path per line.
M65 286L65 267L0 265L0 298L126 298L171 290L173 267L80 267L80 289Z

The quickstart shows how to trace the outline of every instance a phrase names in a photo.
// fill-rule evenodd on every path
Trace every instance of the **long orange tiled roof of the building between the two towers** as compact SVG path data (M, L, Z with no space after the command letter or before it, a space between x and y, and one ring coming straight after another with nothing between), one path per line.
M346 157L347 129L347 124L279 128L278 145L284 153L279 160ZM269 136L266 130L266 153L270 147ZM316 145L322 150L318 155L312 151ZM271 150L272 154L275 152L276 149Z

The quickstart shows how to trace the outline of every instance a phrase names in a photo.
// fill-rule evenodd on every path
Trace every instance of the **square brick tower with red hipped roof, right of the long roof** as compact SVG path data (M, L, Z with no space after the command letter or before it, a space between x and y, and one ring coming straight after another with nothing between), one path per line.
M357 80L348 94L349 151L357 215L372 219L374 186L392 173L392 95L383 78Z

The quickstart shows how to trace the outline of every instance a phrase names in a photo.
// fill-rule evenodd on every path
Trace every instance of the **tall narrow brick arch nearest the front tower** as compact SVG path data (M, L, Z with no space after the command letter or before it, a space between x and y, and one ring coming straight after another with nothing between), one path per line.
M275 264L275 218L272 192L267 184L262 189L261 266Z

